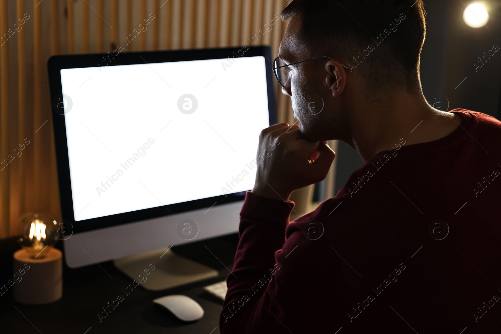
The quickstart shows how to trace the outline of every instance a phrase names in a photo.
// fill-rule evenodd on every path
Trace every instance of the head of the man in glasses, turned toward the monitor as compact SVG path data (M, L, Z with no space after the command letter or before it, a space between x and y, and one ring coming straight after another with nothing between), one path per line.
M422 0L292 0L286 6L285 64L329 57L289 66L290 87L283 92L292 96L306 139L345 139L360 101L421 94L423 7Z

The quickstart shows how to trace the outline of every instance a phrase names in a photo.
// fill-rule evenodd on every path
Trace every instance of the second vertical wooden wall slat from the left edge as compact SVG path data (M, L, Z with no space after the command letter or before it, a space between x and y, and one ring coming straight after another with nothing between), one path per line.
M25 0L18 0L17 3L17 16L23 18L25 12ZM26 98L27 98L27 85L26 75L27 71L23 64L26 64L26 33L22 29L18 33L18 142L23 143L26 138ZM25 166L26 159L19 159L18 161L18 184L21 188L25 189ZM19 192L19 211L21 216L25 211L26 195L24 191Z

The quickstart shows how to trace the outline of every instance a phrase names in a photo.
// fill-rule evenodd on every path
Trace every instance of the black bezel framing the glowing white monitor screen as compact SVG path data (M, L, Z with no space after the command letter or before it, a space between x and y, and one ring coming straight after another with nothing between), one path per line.
M241 54L241 56L240 56ZM71 233L80 233L100 228L117 226L121 224L143 221L151 218L168 216L191 210L197 210L212 205L218 206L226 203L241 201L245 197L245 191L233 194L213 196L182 203L169 204L154 208L136 210L131 212L118 213L103 217L75 221L73 209L73 195L71 189L70 165L68 157L68 143L66 136L66 124L64 112L59 109L62 98L61 70L103 66L103 57L113 57L107 66L166 63L179 61L194 61L206 59L227 59L263 56L266 58L266 81L268 91L268 110L270 124L276 123L276 105L274 92L274 77L272 73L272 55L268 46L259 47L238 47L238 48L217 48L217 49L195 49L195 50L175 50L175 51L150 51L150 52L129 52L119 53L113 56L107 54L87 54L87 55L64 55L53 56L48 60L49 84L51 94L51 110L54 125L54 141L56 146L57 172L59 179L59 193L61 202L61 212L65 231L71 229ZM250 189L248 189L250 190ZM71 225L71 226L69 226Z

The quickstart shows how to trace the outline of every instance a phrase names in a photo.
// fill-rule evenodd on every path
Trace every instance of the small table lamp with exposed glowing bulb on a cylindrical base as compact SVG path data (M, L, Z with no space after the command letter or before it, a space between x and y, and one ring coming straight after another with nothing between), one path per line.
M14 253L14 299L45 304L63 296L63 256L54 244L58 221L49 214L28 212L19 221L22 249ZM17 276L17 278L16 278Z

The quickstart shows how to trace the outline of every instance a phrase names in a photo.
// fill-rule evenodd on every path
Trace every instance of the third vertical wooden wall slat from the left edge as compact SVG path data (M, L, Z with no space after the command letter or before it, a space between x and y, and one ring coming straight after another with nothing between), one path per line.
M38 6L37 6L38 5ZM33 84L33 147L34 147L34 161L33 161L33 197L39 199L41 196L41 181L42 171L42 132L39 128L45 122L42 118L42 83L39 82L42 78L42 7L44 3L38 0L33 1L33 75L37 80ZM44 92L45 93L45 92ZM37 131L38 130L38 131Z

